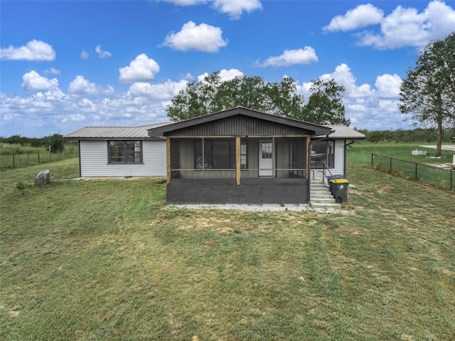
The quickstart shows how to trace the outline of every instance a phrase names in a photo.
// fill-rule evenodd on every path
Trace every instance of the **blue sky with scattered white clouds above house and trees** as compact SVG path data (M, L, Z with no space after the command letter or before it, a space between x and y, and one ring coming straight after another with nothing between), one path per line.
M167 121L188 81L259 75L346 88L351 126L412 127L397 109L419 51L455 31L455 1L0 1L0 135Z

